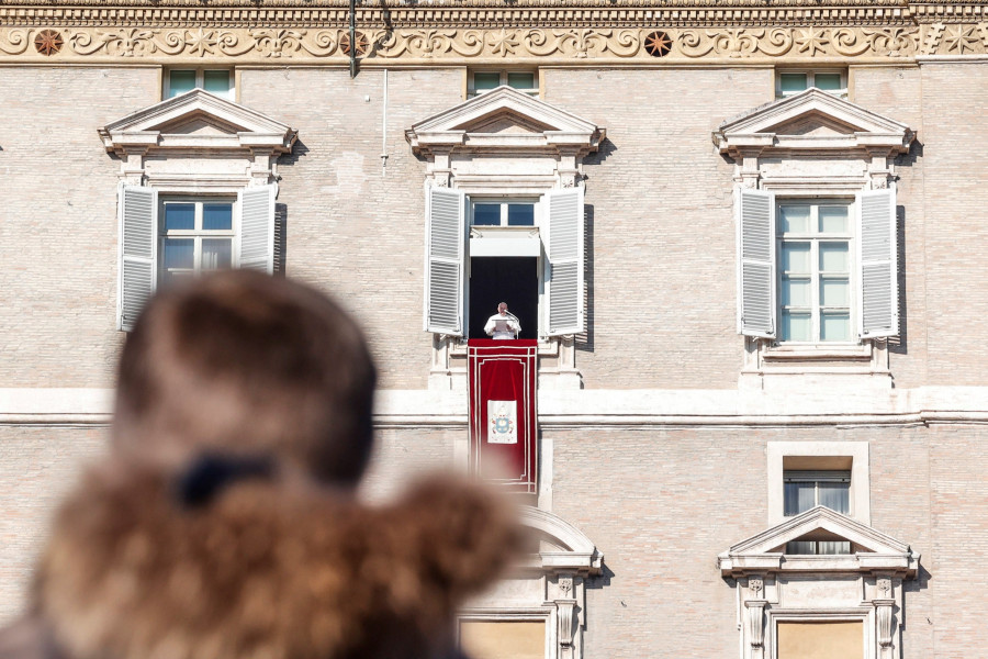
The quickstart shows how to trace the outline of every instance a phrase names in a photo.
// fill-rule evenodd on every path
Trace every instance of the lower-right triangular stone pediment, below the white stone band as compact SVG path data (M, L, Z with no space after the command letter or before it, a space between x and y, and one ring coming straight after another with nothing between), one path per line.
M909 545L824 506L817 506L744 539L720 555L721 567L730 569L782 568L788 543L796 540L845 540L853 557L845 560L875 568L914 570L919 555ZM864 557L864 558L862 558ZM800 557L801 558L801 557ZM798 560L795 559L794 560Z

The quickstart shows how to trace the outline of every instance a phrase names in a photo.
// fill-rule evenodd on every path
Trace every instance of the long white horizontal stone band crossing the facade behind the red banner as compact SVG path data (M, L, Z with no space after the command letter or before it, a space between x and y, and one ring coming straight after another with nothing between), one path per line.
M0 424L105 425L112 400L109 389L0 389ZM539 425L557 428L988 423L988 387L919 387L868 395L854 390L540 390L538 404ZM465 428L467 394L380 391L374 424Z

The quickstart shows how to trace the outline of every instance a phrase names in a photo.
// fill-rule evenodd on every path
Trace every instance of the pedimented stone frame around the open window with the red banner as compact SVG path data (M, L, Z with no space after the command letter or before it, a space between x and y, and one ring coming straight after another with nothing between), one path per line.
M523 130L502 132L490 129L492 118L495 121L501 118L504 121L515 122ZM456 190L464 197L540 199L553 192L582 190L582 160L584 156L598 148L605 137L605 131L538 98L509 87L498 87L415 123L405 131L405 136L412 145L413 153L427 161L425 192L428 220L428 199L430 190L434 189ZM467 160L472 159L482 161L485 156L496 157L496 166L485 169L484 166L474 168L464 165ZM513 158L517 158L515 164L510 161ZM539 163L534 164L534 160ZM465 205L465 201L462 203ZM582 203L581 194L580 204ZM546 212L548 211L543 210L543 214ZM463 214L465 217L465 211ZM469 238L464 236L464 241L483 238L483 232L476 231L483 228L473 227L468 234ZM539 236L539 239L542 241L542 237ZM427 246L429 244L428 236L426 244ZM464 256L462 263L465 261ZM428 267L427 254L427 270ZM460 277L465 278L465 273L461 273ZM585 295L582 273L580 281L579 289L581 294ZM428 286L427 271L427 290ZM540 334L548 325L541 322L543 308L544 305L540 304ZM579 315L583 319L582 308ZM429 331L428 313L426 316L426 330ZM585 321L581 320L581 324L585 325ZM465 389L467 339L461 336L462 326L459 327L459 333L435 328L430 331L433 358L429 388ZM581 376L575 367L575 334L559 332L555 336L548 336L539 342L539 355L554 357L557 364L554 367L540 365L540 387L555 389L581 387ZM454 364L457 361L461 361L462 366Z

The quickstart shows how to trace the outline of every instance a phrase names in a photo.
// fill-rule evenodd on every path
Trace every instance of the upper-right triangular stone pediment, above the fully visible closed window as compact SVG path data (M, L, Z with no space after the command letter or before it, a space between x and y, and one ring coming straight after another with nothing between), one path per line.
M816 88L750 110L714 132L715 144L732 155L748 146L906 152L912 138L906 124Z

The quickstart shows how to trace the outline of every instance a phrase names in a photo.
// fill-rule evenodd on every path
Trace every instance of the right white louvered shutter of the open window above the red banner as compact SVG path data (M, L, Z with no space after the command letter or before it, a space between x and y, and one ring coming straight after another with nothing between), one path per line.
M549 336L583 332L583 188L554 190L549 206Z

